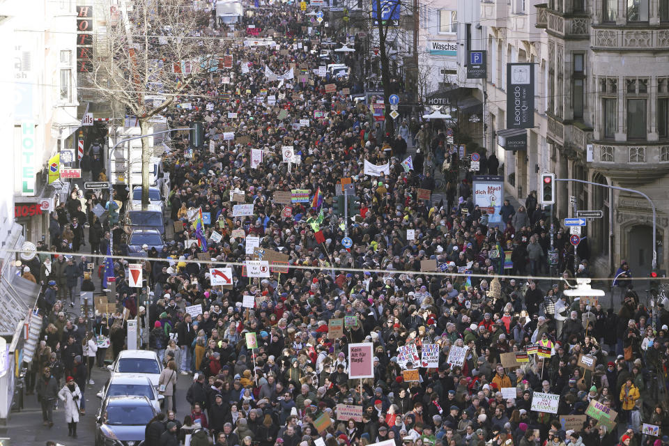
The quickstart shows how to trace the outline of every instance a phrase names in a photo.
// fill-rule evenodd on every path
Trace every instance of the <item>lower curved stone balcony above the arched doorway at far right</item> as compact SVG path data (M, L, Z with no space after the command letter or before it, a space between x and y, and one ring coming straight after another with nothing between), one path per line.
M644 185L669 174L669 144L597 141L590 167L621 185Z

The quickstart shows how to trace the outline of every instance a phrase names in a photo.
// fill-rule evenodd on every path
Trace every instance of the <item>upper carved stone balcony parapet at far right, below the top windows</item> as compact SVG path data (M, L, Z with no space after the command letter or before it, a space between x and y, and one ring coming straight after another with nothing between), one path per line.
M667 51L669 29L611 29L598 26L590 35L594 51Z

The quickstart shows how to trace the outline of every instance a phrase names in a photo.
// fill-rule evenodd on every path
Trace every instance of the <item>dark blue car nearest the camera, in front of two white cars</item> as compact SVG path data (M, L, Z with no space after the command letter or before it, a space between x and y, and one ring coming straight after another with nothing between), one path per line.
M95 446L140 446L157 411L146 397L109 397L95 417Z

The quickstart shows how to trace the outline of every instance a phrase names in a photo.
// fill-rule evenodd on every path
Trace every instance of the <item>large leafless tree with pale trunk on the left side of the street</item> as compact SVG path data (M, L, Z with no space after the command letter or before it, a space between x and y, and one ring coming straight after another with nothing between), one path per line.
M205 36L208 17L187 0L133 0L125 15L108 20L107 49L91 55L89 77L100 95L137 116L141 135L148 134L151 118L174 107L178 96L195 93L197 79L216 66L214 39ZM146 206L148 138L141 139L141 148L141 203Z

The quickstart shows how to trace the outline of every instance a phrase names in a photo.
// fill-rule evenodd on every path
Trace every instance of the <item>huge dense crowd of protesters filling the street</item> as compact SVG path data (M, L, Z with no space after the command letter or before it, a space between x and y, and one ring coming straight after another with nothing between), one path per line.
M589 275L589 266L582 261L574 271L574 249L562 229L553 235L562 280L553 285L528 277L550 271L551 222L535 194L518 209L505 202L502 224L490 224L486 210L472 201L470 182L459 176L457 152L443 132L431 133L412 120L413 129L402 123L397 136L385 134L367 107L342 93L356 88L350 77L314 74L323 61L318 37L306 35L307 18L293 6L243 17L238 29L262 24L275 31L276 45L231 45L234 63L226 76L232 91L210 75L188 98L190 109L168 115L171 127L202 121L205 144L193 150L187 138L176 137L164 155L172 185L168 221L176 231L163 247L146 249L148 302L138 305L127 260L114 259L113 268L118 309L143 316L144 347L166 365L161 383L167 415L148 424L145 445L178 444L186 434L191 446L364 446L384 440L397 446L669 444L666 309L652 321L629 288L629 273L620 278L624 298L616 307L565 295L574 276ZM210 26L216 36L230 31L213 20ZM355 66L357 57L343 59ZM277 74L292 68L294 77L270 81L266 68ZM336 91L326 93L326 84L336 84ZM300 120L308 125L295 125ZM234 132L232 144L224 132ZM407 149L406 137L416 134L424 153ZM282 162L286 145L300 162ZM254 166L252 149L263 151ZM423 156L436 151L446 166L447 194L439 201L418 199L419 188L434 191L422 166ZM405 169L410 153L413 169ZM365 160L390 167L371 176L364 173ZM348 222L334 212L341 178L355 187L357 213ZM309 202L277 203L275 192L291 190L309 190ZM254 204L252 216L233 217L233 191L243 195L239 202ZM52 247L77 252L87 240L94 253L105 254L114 231L114 251L128 254L117 206L102 226L90 212L95 202L73 192L52 215ZM199 212L210 215L210 224L196 234ZM183 229L174 222L183 222ZM413 239L407 230L415 231ZM219 242L212 239L214 231ZM350 248L343 244L347 235ZM246 253L247 236L287 254L289 272L249 278L235 266L231 286L211 286L209 268L256 259ZM47 286L43 307L49 314L28 390L35 389L44 422L52 424L52 402L60 398L66 408L74 407L72 401L92 383L95 363L104 366L106 347L114 357L126 339L121 312L97 314L92 332L83 320L66 320L63 305L72 300L72 290L89 287L85 258L43 260L41 271L27 271L35 277L39 271ZM424 261L433 261L438 273L424 271ZM254 297L253 308L243 307L245 295ZM193 305L202 309L195 317L185 311ZM355 323L343 336L329 336L329 321L346 316ZM247 332L256 334L256 348L247 345ZM364 342L373 344L374 377L353 380L348 344ZM424 344L438 345L438 367L399 360L401 346L409 344L419 354ZM503 353L535 344L548 346L550 356L502 365ZM467 348L461 366L447 363L453 346ZM594 358L592 368L577 365L581 354ZM420 380L405 382L406 369L417 369ZM174 373L167 371L192 375L187 394L176 393ZM63 378L67 384L61 388ZM514 387L514 397L502 397L508 387ZM556 413L532 410L537 393L560 396ZM178 414L185 415L183 422L176 417L177 399L191 408ZM564 416L585 415L593 400L617 411L613 426L587 417L564 429ZM362 406L360 420L337 416L339 404ZM77 420L78 411L69 410L75 435ZM644 434L644 423L659 426L658 434Z

